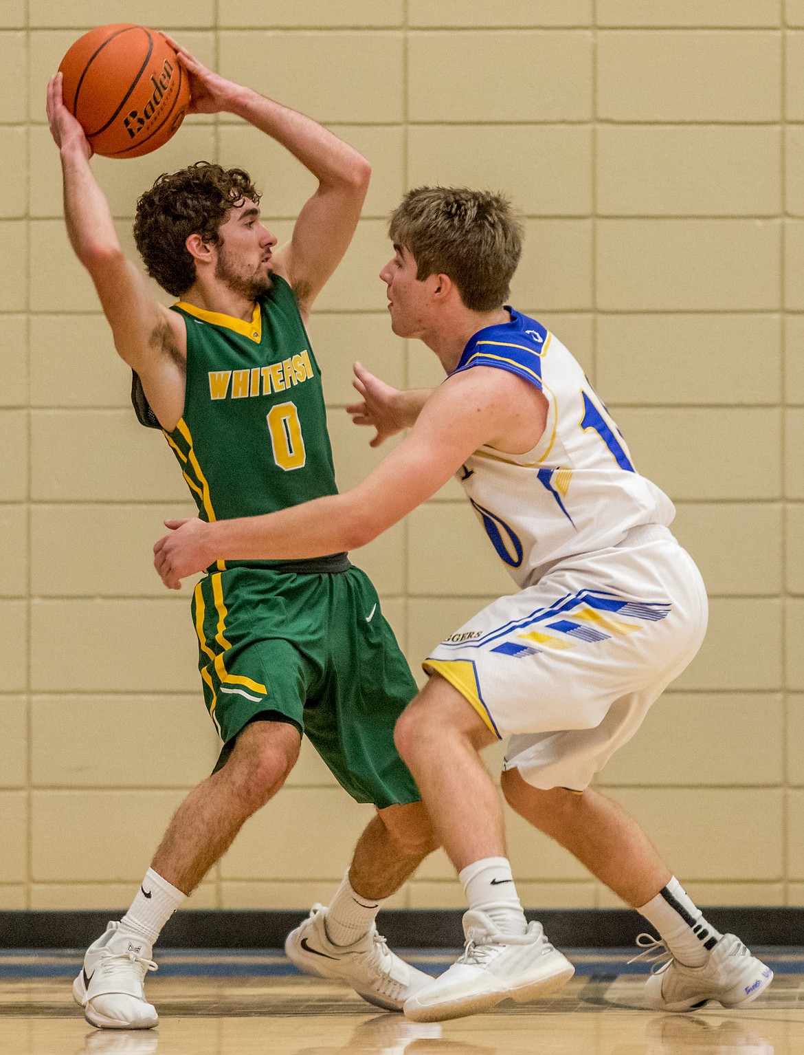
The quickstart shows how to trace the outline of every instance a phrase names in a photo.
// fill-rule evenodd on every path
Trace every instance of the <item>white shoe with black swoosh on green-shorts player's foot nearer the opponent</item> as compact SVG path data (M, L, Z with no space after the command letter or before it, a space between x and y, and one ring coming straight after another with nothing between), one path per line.
M323 905L313 905L308 918L285 940L285 955L299 971L318 978L340 978L364 1000L386 1011L401 1011L405 1001L432 982L431 975L406 963L371 929L352 945L333 945L323 924Z

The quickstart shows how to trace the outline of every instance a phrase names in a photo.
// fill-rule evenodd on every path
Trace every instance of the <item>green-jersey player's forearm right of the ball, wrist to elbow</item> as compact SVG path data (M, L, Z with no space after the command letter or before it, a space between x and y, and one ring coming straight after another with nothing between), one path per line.
M366 158L311 117L251 89L238 92L228 109L281 143L321 185L368 185Z

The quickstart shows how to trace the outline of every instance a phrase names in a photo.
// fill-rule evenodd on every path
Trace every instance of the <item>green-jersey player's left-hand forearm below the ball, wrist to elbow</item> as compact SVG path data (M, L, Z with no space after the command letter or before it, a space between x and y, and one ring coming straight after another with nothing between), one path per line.
M110 254L119 253L120 242L103 191L90 161L78 148L61 151L64 180L64 222L76 256L90 270Z

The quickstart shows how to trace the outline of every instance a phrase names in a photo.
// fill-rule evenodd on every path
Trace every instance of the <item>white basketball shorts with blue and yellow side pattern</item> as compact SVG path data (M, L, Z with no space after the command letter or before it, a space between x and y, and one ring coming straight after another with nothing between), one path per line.
M707 613L692 558L648 524L501 597L423 666L511 737L505 769L583 791L698 652Z

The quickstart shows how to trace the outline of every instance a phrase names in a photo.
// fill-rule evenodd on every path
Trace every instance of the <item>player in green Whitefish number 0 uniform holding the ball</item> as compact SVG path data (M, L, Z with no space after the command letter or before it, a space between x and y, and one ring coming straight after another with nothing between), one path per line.
M318 179L290 243L261 224L239 169L199 162L142 195L135 237L149 272L180 298L153 299L115 234L92 150L47 89L64 212L122 359L141 421L160 427L209 520L336 493L320 373L305 329L352 238L368 162L319 124L204 69L176 45L191 112L229 112L288 149ZM212 776L185 799L131 908L90 947L73 992L87 1020L156 1025L143 981L172 913L281 787L307 732L339 783L377 814L328 909L288 939L302 970L350 982L389 1010L432 981L390 953L374 917L434 848L417 788L393 744L415 683L368 578L345 553L313 561L217 561L193 598L210 715L223 741Z

